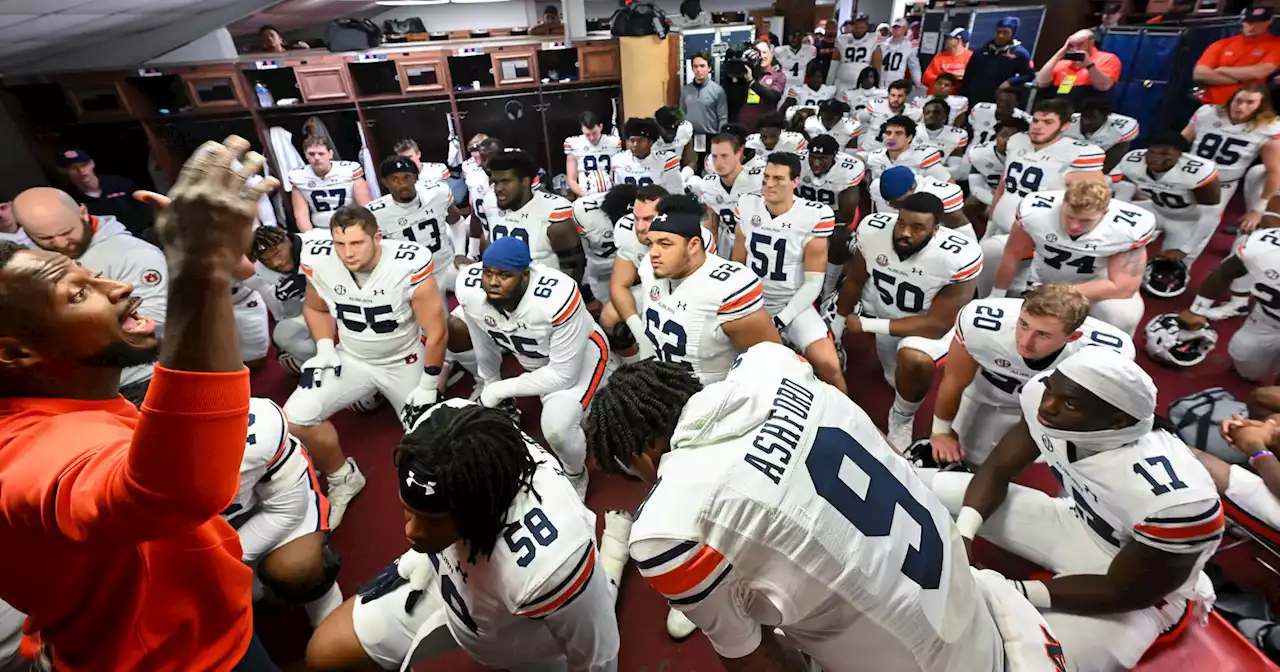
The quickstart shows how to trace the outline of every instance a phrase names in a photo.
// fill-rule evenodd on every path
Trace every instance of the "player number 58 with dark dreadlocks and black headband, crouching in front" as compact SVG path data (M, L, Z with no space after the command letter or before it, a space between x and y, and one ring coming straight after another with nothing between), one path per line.
M394 461L412 550L316 630L308 669L399 669L454 641L494 669L617 669L621 563L607 540L596 571L595 515L553 454L504 412L449 399Z

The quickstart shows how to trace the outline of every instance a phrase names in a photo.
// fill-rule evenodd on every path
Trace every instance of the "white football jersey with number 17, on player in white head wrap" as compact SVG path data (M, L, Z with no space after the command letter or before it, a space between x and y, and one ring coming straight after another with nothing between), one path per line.
M1137 442L1093 454L1050 438L1037 420L1044 378L1023 387L1023 417L1050 471L1075 502L1098 548L1116 554L1130 543L1167 553L1199 554L1171 596L1196 596L1204 562L1222 538L1222 504L1208 471L1178 436L1153 430Z

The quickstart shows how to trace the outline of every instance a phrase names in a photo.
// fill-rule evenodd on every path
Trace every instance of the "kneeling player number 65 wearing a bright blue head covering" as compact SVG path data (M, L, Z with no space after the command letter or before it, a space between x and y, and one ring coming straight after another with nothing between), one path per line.
M586 497L582 413L609 369L609 344L568 275L532 264L520 238L494 241L484 261L463 266L454 288L479 369L480 403L539 397L543 436ZM525 374L502 378L509 353Z

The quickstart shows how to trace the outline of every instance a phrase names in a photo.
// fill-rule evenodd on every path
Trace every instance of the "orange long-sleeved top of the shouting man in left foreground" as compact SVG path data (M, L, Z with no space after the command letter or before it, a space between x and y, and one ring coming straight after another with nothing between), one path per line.
M247 428L248 371L156 366L142 412L0 399L0 599L58 669L223 672L244 655L252 572L219 513Z

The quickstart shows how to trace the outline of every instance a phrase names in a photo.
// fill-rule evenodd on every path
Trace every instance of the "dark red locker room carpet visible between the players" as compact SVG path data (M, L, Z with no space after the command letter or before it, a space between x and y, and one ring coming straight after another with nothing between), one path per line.
M1221 260L1230 247L1231 238L1219 236L1211 243L1208 252L1196 265L1193 287ZM1147 300L1147 317L1160 312L1176 310L1189 303L1189 294L1174 301ZM1252 389L1248 383L1231 371L1226 353L1226 342L1239 326L1242 319L1217 323L1219 347L1208 360L1194 369L1174 370L1151 361L1138 334L1138 358L1151 372L1160 387L1160 403L1164 407L1185 394L1210 387L1224 387L1238 398L1244 398ZM1144 321L1146 324L1146 321ZM846 337L849 348L847 381L854 401L861 404L878 424L883 424L893 401L893 393L884 383L876 361L872 337ZM507 362L507 375L517 374L518 366ZM916 435L928 431L933 397L937 383L924 406L916 415ZM284 403L292 392L296 379L285 375L279 367L270 366L253 379L253 393L270 397ZM468 384L468 383L466 383ZM465 393L468 390L452 390ZM538 436L536 403L521 403L525 428ZM374 576L381 567L404 552L403 518L394 483L394 468L390 465L392 448L399 438L399 424L390 408L383 404L369 415L340 412L334 417L346 453L355 457L360 468L369 479L364 493L356 498L343 525L334 532L333 543L343 557L339 585L344 595L351 595L356 588ZM883 429L883 428L882 428ZM1056 484L1047 471L1032 474L1028 484L1056 492ZM593 474L588 504L599 516L598 527L603 526L604 511L611 508L634 509L645 494L639 481L607 477ZM1224 541L1225 543L1225 541ZM989 548L989 547L988 547ZM1238 548L1224 553L1220 561L1228 566L1233 579L1248 577L1249 582L1266 581L1267 575L1258 571L1257 562L1248 548ZM1005 568L1011 561L991 557L991 564ZM1016 566L1016 563L1012 563ZM1274 584L1274 577L1272 584ZM1245 579L1236 579L1245 582ZM709 672L722 669L707 639L700 634L684 643L673 643L667 636L664 618L667 605L657 593L650 590L632 566L627 567L618 596L618 622L622 631L622 648L618 669L625 672ZM260 607L257 609L257 628L273 659L285 671L303 669L302 655L306 648L310 627L301 609ZM419 672L480 672L486 668L471 662L461 652L421 663ZM1254 652L1231 626L1216 618L1208 627L1192 627L1175 644L1153 649L1138 669L1197 669L1215 672L1254 672L1280 669Z

